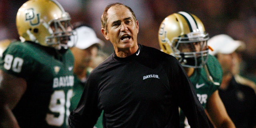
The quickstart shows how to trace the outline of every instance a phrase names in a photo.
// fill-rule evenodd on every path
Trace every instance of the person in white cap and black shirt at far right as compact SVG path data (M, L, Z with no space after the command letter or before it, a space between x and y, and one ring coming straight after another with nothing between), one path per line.
M244 46L244 42L234 40L226 34L220 34L210 38L208 45L213 49L213 51L209 51L209 54L218 58L223 70L219 95L228 115L236 128L255 128L256 94L251 88L255 88L255 84L248 86L248 80L234 71L237 70L237 50Z

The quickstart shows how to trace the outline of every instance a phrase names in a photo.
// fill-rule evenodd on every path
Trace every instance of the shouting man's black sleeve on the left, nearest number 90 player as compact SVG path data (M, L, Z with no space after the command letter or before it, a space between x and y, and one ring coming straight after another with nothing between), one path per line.
M90 74L88 77L78 106L70 113L70 128L93 128L101 114L98 109L98 82L93 76Z

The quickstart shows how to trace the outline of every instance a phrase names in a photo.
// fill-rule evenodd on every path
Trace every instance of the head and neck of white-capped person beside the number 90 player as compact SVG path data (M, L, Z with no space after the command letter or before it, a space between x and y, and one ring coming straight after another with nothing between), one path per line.
M74 74L80 79L80 81L86 81L86 70L90 66L90 62L93 58L96 58L99 48L104 45L104 42L100 40L92 28L81 23L74 24L74 30L77 33L77 42L74 47L71 48L74 54ZM71 41L75 40L71 38Z

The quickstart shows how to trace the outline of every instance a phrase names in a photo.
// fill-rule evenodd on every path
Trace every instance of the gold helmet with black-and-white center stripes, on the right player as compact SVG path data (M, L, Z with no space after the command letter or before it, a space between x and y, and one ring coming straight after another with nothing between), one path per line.
M164 19L158 39L163 52L176 57L183 67L202 68L208 59L208 33L199 18L186 12Z

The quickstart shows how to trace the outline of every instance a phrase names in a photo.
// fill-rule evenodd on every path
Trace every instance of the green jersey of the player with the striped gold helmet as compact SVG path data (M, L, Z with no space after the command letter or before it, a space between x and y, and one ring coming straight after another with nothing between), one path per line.
M206 66L208 67L209 73L215 84L208 80L205 68L195 68L194 73L190 76L190 81L192 82L198 99L204 108L206 108L208 98L213 92L218 90L222 82L222 68L214 56L208 56ZM190 128L188 120L184 116L182 110L180 110L180 128Z

